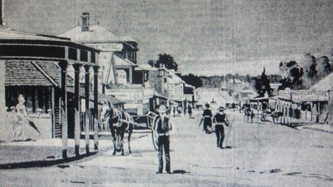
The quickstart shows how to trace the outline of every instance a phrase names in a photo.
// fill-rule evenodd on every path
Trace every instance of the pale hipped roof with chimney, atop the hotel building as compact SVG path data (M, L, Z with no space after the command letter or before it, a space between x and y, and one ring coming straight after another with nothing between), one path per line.
M123 41L121 37L116 36L105 27L100 25L89 26L89 31L82 32L81 26L77 26L64 34L61 37L71 38L76 42L115 42Z

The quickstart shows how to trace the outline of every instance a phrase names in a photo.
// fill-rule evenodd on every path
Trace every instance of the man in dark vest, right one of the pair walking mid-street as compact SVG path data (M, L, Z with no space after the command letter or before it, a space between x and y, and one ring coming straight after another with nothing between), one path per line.
M215 124L216 145L223 149L224 126L229 127L229 122L224 113L225 108L220 106L218 113L214 115L213 123Z

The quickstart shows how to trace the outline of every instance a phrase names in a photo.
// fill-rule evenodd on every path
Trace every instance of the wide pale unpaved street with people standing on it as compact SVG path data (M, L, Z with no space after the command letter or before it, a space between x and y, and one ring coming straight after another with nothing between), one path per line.
M333 137L329 133L266 123L244 123L238 112L218 149L195 119L172 119L171 169L155 174L157 151L150 134L132 142L132 155L110 150L49 168L0 171L2 186L332 186ZM228 129L226 129L226 133ZM110 144L111 145L111 144ZM125 145L126 147L127 145ZM224 145L225 146L225 145ZM327 154L325 154L327 153ZM19 177L18 177L19 176Z

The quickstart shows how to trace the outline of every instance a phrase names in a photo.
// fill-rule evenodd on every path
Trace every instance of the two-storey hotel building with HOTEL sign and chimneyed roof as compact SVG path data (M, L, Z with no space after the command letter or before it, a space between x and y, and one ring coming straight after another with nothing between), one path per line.
M151 108L153 90L148 85L149 71L137 64L137 41L130 36L116 36L108 29L89 24L89 13L82 14L82 25L61 37L99 49L97 61L99 92L123 100L124 110L143 115Z

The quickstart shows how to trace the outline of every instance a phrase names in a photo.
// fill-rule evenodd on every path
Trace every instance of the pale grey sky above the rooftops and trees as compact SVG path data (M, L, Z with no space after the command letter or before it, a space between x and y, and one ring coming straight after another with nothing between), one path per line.
M18 31L60 35L82 12L138 40L138 61L174 56L183 74L277 74L280 61L333 48L331 0L6 0Z

